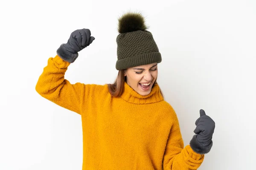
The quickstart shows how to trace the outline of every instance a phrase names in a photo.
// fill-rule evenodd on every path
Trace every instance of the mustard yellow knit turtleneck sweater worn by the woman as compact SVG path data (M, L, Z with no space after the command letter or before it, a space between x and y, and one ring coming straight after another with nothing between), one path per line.
M70 84L69 62L58 55L36 84L44 98L81 115L82 170L196 170L204 155L184 147L177 115L158 85L141 96L125 83L122 96L108 85Z

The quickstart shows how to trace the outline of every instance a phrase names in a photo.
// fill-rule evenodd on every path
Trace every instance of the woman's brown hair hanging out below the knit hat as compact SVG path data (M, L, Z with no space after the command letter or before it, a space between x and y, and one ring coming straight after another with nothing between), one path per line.
M119 97L122 95L123 92L123 84L126 82L126 76L125 76L125 69L119 70L116 80L113 82L113 84L108 84L108 91L113 97ZM157 84L157 79L155 80L154 85ZM160 89L160 93L163 96L163 92Z

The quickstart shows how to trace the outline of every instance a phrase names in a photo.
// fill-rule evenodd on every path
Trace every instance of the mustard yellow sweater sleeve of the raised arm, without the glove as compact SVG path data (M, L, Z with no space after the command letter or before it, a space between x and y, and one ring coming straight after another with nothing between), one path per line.
M67 108L70 111L80 113L84 84L70 84L64 79L64 74L70 62L64 61L58 55L48 59L48 64L38 79L35 90L44 98Z

